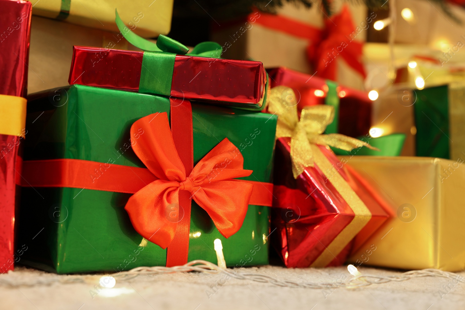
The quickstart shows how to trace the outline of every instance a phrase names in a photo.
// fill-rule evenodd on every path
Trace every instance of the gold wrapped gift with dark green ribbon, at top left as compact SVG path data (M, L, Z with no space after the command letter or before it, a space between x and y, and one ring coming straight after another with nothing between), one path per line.
M123 22L145 38L168 34L173 0L31 0L32 13L72 24L119 32L115 9Z

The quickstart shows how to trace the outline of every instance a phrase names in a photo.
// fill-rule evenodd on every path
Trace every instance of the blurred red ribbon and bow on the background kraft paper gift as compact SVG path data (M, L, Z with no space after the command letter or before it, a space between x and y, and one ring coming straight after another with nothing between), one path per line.
M339 14L325 20L323 30L281 15L263 12L259 14L257 18L252 13L249 21L254 20L267 28L309 40L307 56L317 76L335 80L337 61L334 59L340 55L347 65L364 78L366 77L365 68L361 62L363 43L352 40L358 33L353 26L352 15L346 5L342 7ZM345 47L342 47L343 42L345 42Z

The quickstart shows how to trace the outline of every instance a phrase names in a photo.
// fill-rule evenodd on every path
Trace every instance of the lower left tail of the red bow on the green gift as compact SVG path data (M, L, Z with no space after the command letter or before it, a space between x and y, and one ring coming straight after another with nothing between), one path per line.
M166 249L176 232L178 202L179 183L156 180L131 196L125 210L142 237Z

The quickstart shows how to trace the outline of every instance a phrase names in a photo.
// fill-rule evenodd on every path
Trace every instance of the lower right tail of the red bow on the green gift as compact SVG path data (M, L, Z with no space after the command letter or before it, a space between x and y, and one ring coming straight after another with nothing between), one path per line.
M239 180L203 184L193 189L193 199L207 211L218 231L230 237L242 227L253 185Z

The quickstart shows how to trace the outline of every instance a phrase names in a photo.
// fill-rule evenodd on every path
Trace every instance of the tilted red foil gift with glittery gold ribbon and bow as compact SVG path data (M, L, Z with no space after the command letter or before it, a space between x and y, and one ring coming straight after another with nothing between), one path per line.
M273 244L287 267L342 264L389 218L389 205L328 147L370 146L323 135L333 107L307 106L299 119L293 96L278 86L267 100L268 112L278 115L272 225L279 233Z

